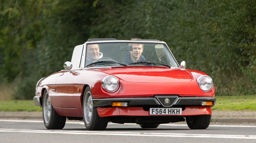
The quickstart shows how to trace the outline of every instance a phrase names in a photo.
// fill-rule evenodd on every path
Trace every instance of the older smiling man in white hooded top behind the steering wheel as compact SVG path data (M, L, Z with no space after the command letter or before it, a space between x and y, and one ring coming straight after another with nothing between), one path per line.
M102 58L103 54L99 52L98 44L88 44L86 53L86 64L91 64L97 59Z

